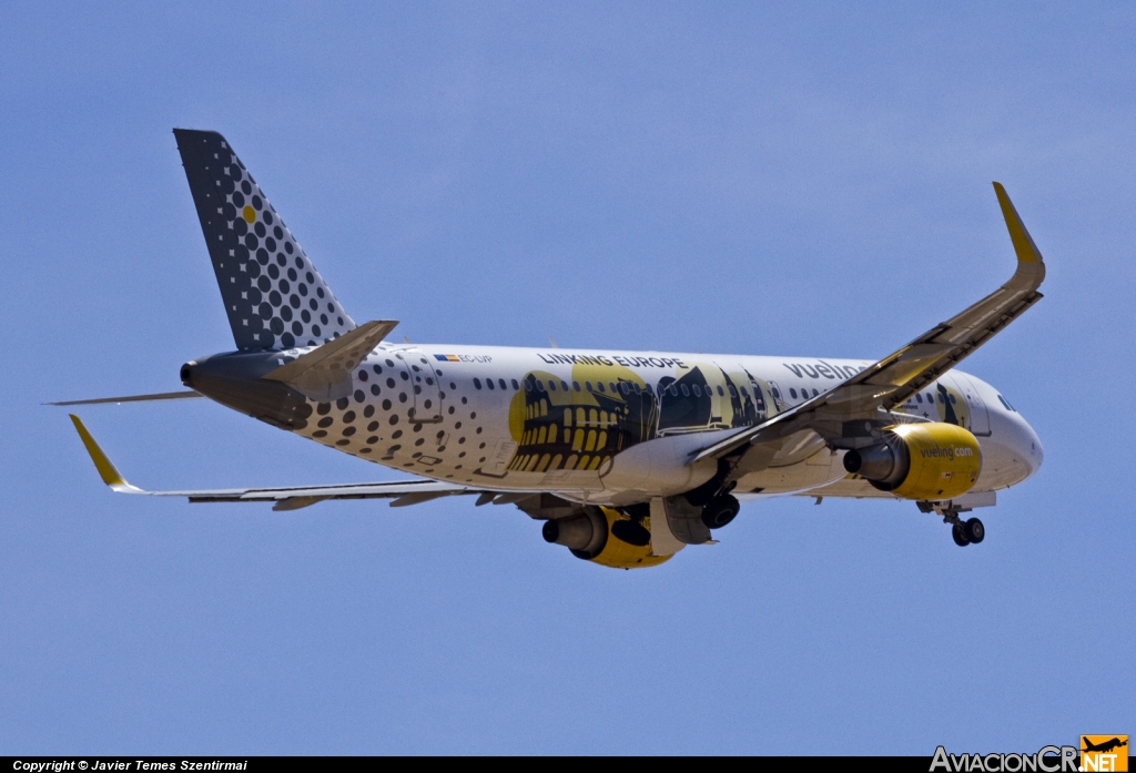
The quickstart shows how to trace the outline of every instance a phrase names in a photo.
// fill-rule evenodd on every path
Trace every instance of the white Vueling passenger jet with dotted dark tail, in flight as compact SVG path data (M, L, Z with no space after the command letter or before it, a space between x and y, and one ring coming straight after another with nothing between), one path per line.
M942 516L958 545L982 543L982 521L960 515L1042 464L1022 415L955 369L1042 297L1042 254L1000 183L1013 276L876 362L412 345L387 339L396 321L352 320L225 137L174 135L235 350L183 364L189 390L52 404L207 397L416 477L147 491L73 414L115 491L275 511L475 496L516 505L579 558L636 569L715 544L743 502L784 495L907 499Z

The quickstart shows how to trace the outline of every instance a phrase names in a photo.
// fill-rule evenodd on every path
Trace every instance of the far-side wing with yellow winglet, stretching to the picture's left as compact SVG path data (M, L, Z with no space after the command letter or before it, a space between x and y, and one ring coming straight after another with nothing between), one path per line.
M481 494L478 504L493 499L501 491L454 486L435 480L400 480L378 484L348 484L344 486L295 486L287 488L219 488L199 491L147 491L132 486L123 478L99 444L91 437L78 417L70 414L83 445L91 454L102 482L120 494L149 496L184 496L190 502L274 502L273 510L298 510L324 499L393 499L392 507L415 505L442 496ZM508 495L507 495L508 496Z

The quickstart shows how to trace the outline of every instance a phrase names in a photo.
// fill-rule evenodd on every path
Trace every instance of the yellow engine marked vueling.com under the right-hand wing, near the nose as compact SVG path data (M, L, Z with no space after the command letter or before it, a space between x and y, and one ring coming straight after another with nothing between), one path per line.
M904 499L951 499L978 480L982 447L958 425L896 425L884 434L879 445L844 454L844 469Z

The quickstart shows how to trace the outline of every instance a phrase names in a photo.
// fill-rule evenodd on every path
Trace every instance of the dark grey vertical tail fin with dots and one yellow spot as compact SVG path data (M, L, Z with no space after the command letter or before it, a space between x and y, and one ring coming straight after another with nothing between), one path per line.
M217 132L174 129L237 348L317 346L356 327Z

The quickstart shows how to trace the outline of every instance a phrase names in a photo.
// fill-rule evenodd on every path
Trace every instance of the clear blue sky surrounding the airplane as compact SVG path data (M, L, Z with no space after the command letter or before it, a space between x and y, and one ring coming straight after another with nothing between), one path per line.
M8 3L0 751L1036 750L1136 731L1136 10ZM1038 476L960 551L778 499L619 572L511 507L107 491L49 400L232 346L174 126L224 133L356 320L416 342L967 361ZM151 488L381 480L203 401L81 412ZM1129 556L1125 558L1124 556Z

